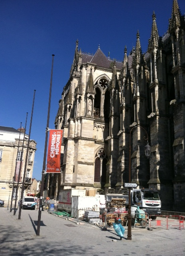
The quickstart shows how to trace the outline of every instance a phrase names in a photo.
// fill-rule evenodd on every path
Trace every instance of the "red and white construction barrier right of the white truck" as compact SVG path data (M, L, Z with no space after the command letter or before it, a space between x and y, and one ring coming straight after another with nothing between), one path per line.
M163 219L152 220L152 216L160 217ZM150 215L149 216L149 228L178 228L184 229L185 216L180 215Z

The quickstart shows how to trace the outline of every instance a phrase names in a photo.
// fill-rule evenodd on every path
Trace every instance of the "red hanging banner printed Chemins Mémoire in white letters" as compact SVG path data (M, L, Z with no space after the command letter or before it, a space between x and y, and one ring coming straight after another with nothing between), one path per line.
M60 152L63 130L49 130L47 173L60 172Z

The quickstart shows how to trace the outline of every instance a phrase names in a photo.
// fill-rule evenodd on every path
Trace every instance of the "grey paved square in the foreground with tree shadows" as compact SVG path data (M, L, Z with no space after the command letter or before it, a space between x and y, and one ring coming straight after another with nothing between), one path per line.
M10 212L0 207L0 255L44 256L185 256L185 229L178 226L152 231L140 226L132 228L132 240L127 240L127 228L120 240L114 228L102 228L86 222L67 220L41 212L40 235L37 231L37 210Z

